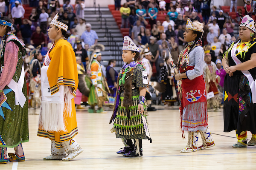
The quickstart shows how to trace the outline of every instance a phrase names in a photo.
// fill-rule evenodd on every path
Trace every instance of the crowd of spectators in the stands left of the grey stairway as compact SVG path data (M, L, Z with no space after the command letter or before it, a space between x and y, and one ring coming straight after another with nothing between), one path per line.
M28 3L32 11L29 17L24 17L23 4ZM84 20L84 7L84 0L76 0L74 6L70 4L70 0L64 0L63 6L58 0L52 0L50 3L47 0L27 2L25 0L9 0L9 2L0 0L0 12L13 20L14 25L11 31L27 46L33 45L36 48L41 45L41 50L44 48L47 51L52 46L47 30L55 14L58 13L59 18L69 26L68 31L71 36L68 42L74 48L76 55L81 57L82 62L88 60L84 48L90 48L98 40L96 31L92 30L90 23Z

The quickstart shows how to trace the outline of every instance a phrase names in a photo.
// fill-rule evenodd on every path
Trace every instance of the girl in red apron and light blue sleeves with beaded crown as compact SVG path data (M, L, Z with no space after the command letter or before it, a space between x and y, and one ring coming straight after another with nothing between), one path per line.
M214 142L208 127L207 91L203 77L204 49L201 37L204 25L198 21L187 20L184 40L188 42L180 53L178 68L180 73L175 75L179 80L180 90L180 119L182 131L188 131L188 144L180 152L194 152L213 147ZM198 135L202 136L203 144L197 147Z

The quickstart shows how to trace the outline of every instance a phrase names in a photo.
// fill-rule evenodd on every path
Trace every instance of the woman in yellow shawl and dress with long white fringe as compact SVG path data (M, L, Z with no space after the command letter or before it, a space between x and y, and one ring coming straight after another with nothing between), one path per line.
M67 24L55 15L48 29L54 40L41 68L41 113L38 136L52 141L51 155L44 160L70 161L83 150L74 139L78 134L74 97L78 87L76 56L67 39Z

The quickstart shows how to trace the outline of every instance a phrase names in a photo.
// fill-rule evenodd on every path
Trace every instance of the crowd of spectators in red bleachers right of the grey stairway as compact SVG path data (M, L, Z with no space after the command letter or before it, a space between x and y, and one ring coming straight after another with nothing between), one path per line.
M148 45L152 53L150 62L153 67L155 65L158 77L159 65L169 56L166 45L175 63L178 54L185 48L187 42L183 39L183 33L188 18L204 23L203 45L210 49L213 62L221 59L230 43L238 38L238 35L234 37L235 23L240 24L245 14L255 14L256 9L256 1L244 0L245 13L242 13L241 9L236 10L237 0L230 1L230 12L233 9L236 12L235 20L225 14L221 6L220 9L212 6L212 0L127 0L122 7L115 4L122 16L121 28L129 28L131 38L138 45Z

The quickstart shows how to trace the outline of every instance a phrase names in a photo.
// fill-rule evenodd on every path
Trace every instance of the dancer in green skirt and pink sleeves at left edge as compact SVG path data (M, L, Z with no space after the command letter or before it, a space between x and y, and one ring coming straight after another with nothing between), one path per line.
M29 141L28 102L23 56L26 48L11 31L12 20L0 17L0 164L25 161L22 144ZM9 153L7 147L14 147Z

